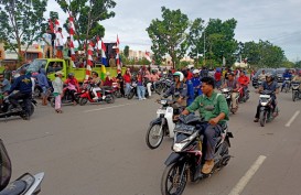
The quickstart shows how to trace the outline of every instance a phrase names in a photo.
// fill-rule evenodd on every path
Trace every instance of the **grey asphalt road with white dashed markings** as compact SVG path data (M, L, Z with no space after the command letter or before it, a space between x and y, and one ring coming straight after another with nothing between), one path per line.
M45 172L42 195L160 195L172 140L163 140L157 150L146 145L146 130L159 108L154 99L66 106L62 115L37 106L30 121L0 119L12 178ZM230 116L235 138L229 164L187 184L184 194L301 194L301 100L293 102L291 93L281 93L278 101L280 116L262 128L252 122L258 95L251 93Z

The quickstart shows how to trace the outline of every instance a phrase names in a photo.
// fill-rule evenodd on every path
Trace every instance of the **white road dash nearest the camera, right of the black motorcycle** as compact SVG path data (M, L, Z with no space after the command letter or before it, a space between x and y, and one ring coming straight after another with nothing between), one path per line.
M236 186L232 189L229 195L239 195L252 175L258 171L258 169L261 166L261 164L265 162L267 156L265 155L259 155L259 158L255 161L255 163L251 165L251 167L248 170L248 172L239 180L239 182L236 184Z

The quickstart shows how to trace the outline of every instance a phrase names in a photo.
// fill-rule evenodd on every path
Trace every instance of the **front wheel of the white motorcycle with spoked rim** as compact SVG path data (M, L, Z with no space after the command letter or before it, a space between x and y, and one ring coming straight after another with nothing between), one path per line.
M164 137L163 127L159 134L160 128L161 128L161 124L150 124L147 131L146 142L150 149L157 149L158 147L160 147L160 144L163 141L163 137Z

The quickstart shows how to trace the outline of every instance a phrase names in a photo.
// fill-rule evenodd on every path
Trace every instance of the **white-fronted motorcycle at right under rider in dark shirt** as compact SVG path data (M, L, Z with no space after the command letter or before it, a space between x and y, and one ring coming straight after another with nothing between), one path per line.
M266 122L270 122L279 113L278 107L273 108L271 105L272 94L271 90L264 90L259 95L259 122L261 127L265 127ZM276 116L272 116L273 111L277 113Z

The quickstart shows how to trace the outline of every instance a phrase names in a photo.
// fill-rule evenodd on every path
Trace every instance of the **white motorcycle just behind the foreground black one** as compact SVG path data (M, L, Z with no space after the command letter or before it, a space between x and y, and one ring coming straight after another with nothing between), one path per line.
M150 122L146 134L146 142L150 149L157 149L163 141L163 137L173 138L174 116L180 115L181 110L175 100L157 100L161 108L157 110L157 118Z

